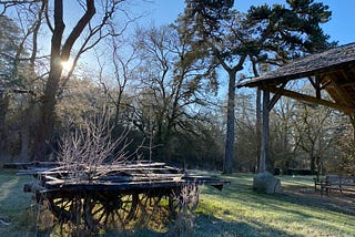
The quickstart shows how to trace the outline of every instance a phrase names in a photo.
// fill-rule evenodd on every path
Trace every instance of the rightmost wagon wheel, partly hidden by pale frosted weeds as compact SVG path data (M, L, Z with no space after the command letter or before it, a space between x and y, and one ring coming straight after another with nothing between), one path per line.
M194 212L199 204L199 190L196 185L186 185L175 188L169 195L169 208L172 216L181 212Z

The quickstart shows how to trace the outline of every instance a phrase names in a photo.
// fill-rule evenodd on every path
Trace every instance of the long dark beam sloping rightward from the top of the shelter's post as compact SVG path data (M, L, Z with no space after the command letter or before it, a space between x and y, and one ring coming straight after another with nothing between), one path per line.
M308 103L313 103L313 104L321 104L321 105L325 105L328 107L333 107L339 111L343 111L346 114L354 114L355 113L355 107L349 107L349 106L345 106L342 104L336 104L334 102L331 101L326 101L323 99L317 99L317 97L313 97L311 95L306 95L306 94L301 94L298 92L294 92L294 91L290 91L290 90L285 90L285 89L280 89L276 86L263 86L262 90L264 91L268 91L272 93L280 93L281 95L287 96L287 97L292 97L295 100L300 100L300 101L304 101L304 102L308 102Z

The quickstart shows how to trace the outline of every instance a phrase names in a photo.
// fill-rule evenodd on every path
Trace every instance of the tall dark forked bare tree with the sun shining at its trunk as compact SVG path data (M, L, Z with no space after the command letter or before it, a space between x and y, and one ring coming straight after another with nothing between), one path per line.
M48 152L48 145L51 141L51 135L53 132L54 122L54 110L57 104L58 93L61 91L61 86L65 84L72 70L78 62L82 53L92 49L98 44L103 38L110 35L110 31L104 31L105 27L110 23L110 19L116 11L118 6L123 2L120 1L104 1L102 2L103 13L101 21L94 24L92 20L97 14L95 1L87 0L85 3L79 2L83 8L84 12L77 21L77 24L70 31L68 38L64 40L64 10L63 0L55 0L53 6L53 24L49 20L49 4L44 2L45 17L48 21L49 29L52 32L51 37L51 53L50 53L50 70L48 81L45 83L44 93L41 97L41 115L39 130L36 134L36 159L44 159ZM100 17L99 16L99 17ZM87 33L84 34L84 30ZM71 56L73 45L79 39L82 39L82 43L75 55L73 55L74 65L67 75L62 79L62 62L67 62Z

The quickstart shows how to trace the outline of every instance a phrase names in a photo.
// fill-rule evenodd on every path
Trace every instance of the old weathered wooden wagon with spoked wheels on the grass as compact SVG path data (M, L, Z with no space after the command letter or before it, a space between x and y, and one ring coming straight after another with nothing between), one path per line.
M36 182L27 184L24 190L33 192L37 202L48 205L60 221L83 224L93 231L111 224L124 227L140 208L164 202L172 216L182 208L193 210L200 185L222 190L229 183L148 162L94 167L70 164L33 171Z

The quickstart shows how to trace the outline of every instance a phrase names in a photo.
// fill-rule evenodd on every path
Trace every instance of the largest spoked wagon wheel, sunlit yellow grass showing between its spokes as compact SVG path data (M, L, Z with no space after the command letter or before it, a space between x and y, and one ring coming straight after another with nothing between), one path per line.
M84 220L91 230L102 226L124 227L135 216L138 194L94 195L84 199Z

